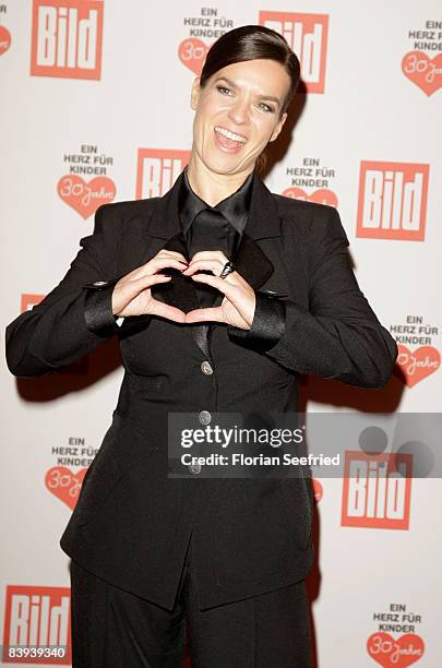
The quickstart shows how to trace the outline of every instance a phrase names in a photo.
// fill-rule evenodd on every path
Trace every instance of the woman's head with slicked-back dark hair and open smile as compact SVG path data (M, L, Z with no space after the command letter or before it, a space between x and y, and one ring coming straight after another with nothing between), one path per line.
M297 57L268 28L254 26L251 33L243 26L218 39L192 86L196 112L189 174L201 169L195 165L200 162L224 178L230 176L231 187L239 187L267 143L278 136L299 76ZM217 196L205 201L216 204Z

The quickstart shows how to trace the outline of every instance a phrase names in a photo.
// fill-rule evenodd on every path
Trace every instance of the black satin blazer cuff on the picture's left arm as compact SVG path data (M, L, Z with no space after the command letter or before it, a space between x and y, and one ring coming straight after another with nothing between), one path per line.
M97 336L107 338L118 332L119 326L112 313L112 293L119 278L97 281L84 285L84 320L86 327Z

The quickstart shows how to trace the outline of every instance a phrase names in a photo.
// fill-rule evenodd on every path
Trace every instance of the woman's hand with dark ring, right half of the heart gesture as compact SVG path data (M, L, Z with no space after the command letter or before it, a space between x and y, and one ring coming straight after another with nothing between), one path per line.
M195 309L186 314L186 322L224 322L241 330L250 330L253 322L256 298L253 288L238 274L231 272L226 278L219 278L228 259L222 251L200 251L195 253L182 274L190 276L195 283L205 283L224 295L218 307ZM199 271L210 271L211 274L195 274Z

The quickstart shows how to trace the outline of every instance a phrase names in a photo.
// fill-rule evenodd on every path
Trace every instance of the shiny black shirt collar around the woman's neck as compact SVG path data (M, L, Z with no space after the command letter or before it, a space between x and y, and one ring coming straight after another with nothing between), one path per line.
M254 171L231 195L222 200L216 206L210 206L193 192L190 187L187 168L183 171L179 193L180 220L182 231L186 234L199 213L205 208L218 211L227 222L239 232L243 232L249 217L251 195L253 190Z

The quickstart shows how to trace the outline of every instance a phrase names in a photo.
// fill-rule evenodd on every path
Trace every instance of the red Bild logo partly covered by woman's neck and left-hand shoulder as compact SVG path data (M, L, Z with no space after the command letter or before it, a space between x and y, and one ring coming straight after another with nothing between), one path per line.
M140 148L136 199L160 198L170 190L189 163L190 151Z

